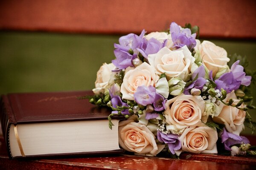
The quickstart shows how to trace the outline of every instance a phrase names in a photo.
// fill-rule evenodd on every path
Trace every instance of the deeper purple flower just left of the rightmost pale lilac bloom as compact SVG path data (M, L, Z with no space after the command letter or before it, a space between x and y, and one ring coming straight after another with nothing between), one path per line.
M221 90L223 88L227 93L230 93L233 90L239 89L241 82L237 81L233 73L224 73L220 78L215 80L216 89Z

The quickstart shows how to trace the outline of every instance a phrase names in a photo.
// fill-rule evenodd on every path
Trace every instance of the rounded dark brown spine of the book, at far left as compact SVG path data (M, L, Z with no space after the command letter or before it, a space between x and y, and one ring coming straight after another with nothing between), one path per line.
M7 96L2 95L0 99L0 121L3 130L3 137L6 142L6 149L10 158L13 158L11 150L10 150L10 142L9 142L9 132L11 123L13 123L12 118L12 108L9 103L9 99Z

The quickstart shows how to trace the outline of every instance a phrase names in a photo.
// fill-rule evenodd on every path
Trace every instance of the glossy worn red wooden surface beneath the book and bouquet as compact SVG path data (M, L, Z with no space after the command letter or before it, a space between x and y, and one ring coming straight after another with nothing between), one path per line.
M253 170L256 158L182 153L180 159L115 155L102 157L9 159L0 136L1 170Z

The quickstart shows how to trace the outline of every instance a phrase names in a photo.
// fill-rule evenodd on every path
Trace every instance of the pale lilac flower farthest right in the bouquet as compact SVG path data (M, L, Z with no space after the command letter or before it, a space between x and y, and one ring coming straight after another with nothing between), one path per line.
M244 68L243 66L239 65L239 62L239 60L234 62L230 68L230 71L233 73L234 79L241 82L241 85L248 86L250 85L252 77L245 76Z

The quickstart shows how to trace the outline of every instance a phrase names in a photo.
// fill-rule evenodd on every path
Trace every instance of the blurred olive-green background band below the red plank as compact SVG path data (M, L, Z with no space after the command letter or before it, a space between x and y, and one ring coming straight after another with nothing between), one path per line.
M119 37L1 31L0 94L91 90L99 67L114 59ZM256 68L256 41L210 41L228 54L247 56L249 68ZM256 98L255 90L252 95ZM256 111L250 113L256 120Z

